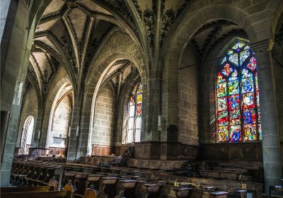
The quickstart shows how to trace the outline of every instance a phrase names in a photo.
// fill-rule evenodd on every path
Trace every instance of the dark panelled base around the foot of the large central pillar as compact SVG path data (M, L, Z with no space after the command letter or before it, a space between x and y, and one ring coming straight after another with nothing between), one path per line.
M197 159L198 153L198 146L173 141L143 141L134 144L134 158L137 159Z

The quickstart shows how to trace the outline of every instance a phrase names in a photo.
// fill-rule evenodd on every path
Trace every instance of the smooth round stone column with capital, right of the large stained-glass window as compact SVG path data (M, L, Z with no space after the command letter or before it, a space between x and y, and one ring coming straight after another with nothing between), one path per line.
M272 40L262 40L250 45L258 64L265 192L268 192L270 185L279 184L282 177L272 45Z

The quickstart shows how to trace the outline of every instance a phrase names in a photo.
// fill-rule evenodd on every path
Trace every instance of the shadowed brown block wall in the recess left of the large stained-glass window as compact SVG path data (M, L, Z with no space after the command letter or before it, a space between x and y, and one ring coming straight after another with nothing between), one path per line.
M198 74L195 50L187 45L178 74L179 134L183 144L198 144Z

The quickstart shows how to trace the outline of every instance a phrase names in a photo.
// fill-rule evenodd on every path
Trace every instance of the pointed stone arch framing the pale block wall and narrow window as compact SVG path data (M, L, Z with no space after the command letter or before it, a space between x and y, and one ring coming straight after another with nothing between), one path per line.
M94 109L93 97L96 97L96 91L100 86L100 81L102 81L103 72L105 72L106 69L109 69L111 64L117 59L127 59L138 68L141 81L146 87L146 69L144 69L145 65L141 56L141 51L127 33L118 28L112 30L96 53L97 55L94 57L93 63L91 63L85 79L83 105L81 107L82 116L80 121L79 156L86 156L91 150L90 147L92 147L92 145L90 145L92 142L89 142L88 140L91 136L91 141L93 141L93 131L90 132L90 129L92 130L90 120L94 120L92 112ZM146 95L146 88L144 89L144 95ZM143 99L146 101L146 96L144 96ZM89 144L87 144L88 142Z

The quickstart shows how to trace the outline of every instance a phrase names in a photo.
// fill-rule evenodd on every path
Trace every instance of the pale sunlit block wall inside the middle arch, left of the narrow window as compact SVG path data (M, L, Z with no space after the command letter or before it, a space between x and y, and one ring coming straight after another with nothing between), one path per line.
M110 146L113 136L115 95L110 86L105 86L98 95L93 123L92 144Z

